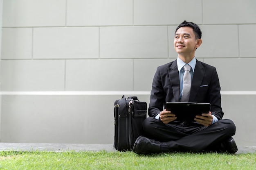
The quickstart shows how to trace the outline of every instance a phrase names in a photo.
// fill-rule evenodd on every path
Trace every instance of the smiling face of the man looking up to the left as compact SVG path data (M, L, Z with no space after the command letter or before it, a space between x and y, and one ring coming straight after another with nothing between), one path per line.
M174 49L178 54L184 56L189 54L194 55L195 49L200 46L198 46L197 41L198 39L195 39L193 28L188 26L180 27L175 33Z

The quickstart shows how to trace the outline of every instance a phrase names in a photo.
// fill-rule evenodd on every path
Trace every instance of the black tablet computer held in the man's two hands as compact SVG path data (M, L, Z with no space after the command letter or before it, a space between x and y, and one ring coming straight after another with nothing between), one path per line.
M166 102L166 110L175 114L176 121L195 122L196 115L202 116L202 113L209 113L210 109L210 103Z

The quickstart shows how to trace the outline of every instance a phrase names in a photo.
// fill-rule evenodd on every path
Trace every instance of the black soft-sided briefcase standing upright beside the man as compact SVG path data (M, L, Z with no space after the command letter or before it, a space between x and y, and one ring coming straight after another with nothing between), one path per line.
M123 96L114 103L114 146L116 150L132 150L135 140L142 132L142 122L146 119L147 103L137 96L127 99Z

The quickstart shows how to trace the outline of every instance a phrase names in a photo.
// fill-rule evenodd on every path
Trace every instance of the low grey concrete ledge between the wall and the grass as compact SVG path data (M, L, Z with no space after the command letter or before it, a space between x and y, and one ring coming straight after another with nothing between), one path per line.
M0 143L0 151L100 151L115 152L112 144ZM256 146L238 146L238 153L256 153Z

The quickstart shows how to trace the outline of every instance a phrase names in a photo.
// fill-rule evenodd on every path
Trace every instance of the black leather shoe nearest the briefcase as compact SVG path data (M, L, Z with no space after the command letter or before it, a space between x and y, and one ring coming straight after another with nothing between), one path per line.
M160 142L139 136L133 146L133 152L137 154L160 153Z

